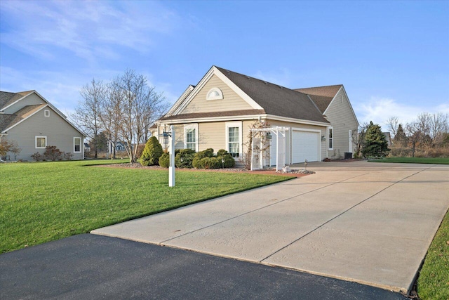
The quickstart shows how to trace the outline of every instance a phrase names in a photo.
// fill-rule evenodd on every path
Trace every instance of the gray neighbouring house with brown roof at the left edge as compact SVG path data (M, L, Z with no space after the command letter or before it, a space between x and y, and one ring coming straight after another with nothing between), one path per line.
M34 153L43 154L46 146L56 146L72 153L72 159L83 159L85 135L67 117L36 91L9 93L0 91L0 138L15 141L21 148L10 160L32 160Z

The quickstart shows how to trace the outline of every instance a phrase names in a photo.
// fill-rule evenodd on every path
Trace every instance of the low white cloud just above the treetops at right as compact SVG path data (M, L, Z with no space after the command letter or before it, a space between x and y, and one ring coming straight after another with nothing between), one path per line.
M441 104L434 107L420 107L398 103L394 99L376 96L372 96L369 100L361 103L352 104L360 124L373 121L376 124L380 124L384 131L387 131L386 122L390 117L398 117L401 124L406 124L415 120L417 115L420 115L422 112L429 112L431 114L436 112L449 113L448 104Z

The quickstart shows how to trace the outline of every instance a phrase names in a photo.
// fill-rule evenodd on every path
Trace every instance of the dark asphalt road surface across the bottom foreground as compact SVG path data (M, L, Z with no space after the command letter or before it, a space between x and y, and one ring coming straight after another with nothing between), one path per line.
M0 299L407 299L377 287L99 235L0 255Z

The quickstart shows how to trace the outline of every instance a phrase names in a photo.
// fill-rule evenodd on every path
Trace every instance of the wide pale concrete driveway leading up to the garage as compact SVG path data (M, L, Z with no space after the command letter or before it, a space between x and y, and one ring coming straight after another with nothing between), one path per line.
M410 292L449 207L449 166L308 169L316 174L92 233Z

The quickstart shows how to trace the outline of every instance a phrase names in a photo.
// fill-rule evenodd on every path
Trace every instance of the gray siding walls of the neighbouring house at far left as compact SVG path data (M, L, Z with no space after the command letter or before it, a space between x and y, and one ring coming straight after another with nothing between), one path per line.
M44 110L50 110L50 117L43 115ZM56 146L62 152L71 152L73 155L72 159L84 158L84 141L81 133L60 117L51 107L45 107L8 131L6 138L10 141L16 141L22 149L16 157L12 153L8 153L11 159L32 161L32 154L45 152L45 149L36 149L36 136L46 136L48 146ZM81 138L81 153L74 153L74 137Z

